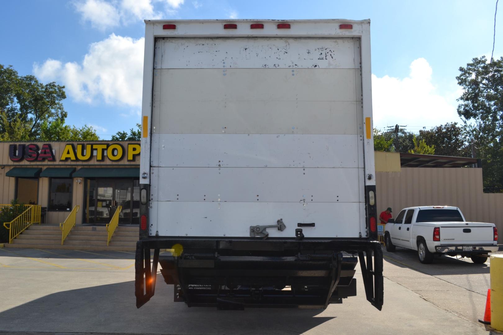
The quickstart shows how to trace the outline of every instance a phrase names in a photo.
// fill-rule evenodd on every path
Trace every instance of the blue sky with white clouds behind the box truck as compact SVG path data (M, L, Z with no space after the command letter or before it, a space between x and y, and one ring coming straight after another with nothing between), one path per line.
M374 126L459 121L458 68L490 56L495 0L4 1L0 64L66 86L67 123L100 137L139 122L143 19L371 19ZM494 57L503 55L503 4Z

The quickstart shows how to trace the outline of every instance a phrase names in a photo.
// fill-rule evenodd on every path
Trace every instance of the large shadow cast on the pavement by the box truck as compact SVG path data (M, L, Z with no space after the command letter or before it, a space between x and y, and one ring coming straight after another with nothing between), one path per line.
M323 309L221 311L172 300L173 286L160 275L154 297L140 309L133 281L57 292L1 312L0 331L301 334L333 319L316 317Z

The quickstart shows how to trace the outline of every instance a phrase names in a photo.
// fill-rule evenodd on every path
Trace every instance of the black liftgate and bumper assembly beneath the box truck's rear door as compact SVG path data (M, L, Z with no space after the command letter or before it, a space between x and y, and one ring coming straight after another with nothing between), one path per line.
M172 253L159 255L161 249ZM174 301L189 307L326 308L356 295L358 261L367 300L381 310L382 250L376 241L144 238L136 245L136 306L154 295L160 264L164 281L174 285Z

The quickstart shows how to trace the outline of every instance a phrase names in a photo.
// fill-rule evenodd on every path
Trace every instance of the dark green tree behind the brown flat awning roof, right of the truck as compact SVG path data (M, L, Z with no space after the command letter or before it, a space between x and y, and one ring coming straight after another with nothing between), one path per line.
M420 130L417 138L435 147L436 155L471 157L466 132L456 122L446 123L430 130Z

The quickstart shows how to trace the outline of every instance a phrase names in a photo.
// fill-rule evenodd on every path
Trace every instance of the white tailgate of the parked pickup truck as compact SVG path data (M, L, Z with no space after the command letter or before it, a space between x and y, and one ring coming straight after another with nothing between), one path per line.
M482 222L445 222L440 226L440 244L492 244L492 228Z

